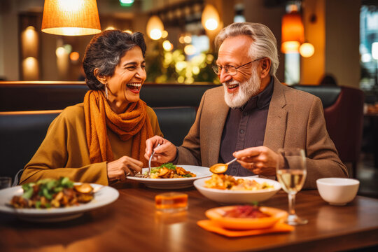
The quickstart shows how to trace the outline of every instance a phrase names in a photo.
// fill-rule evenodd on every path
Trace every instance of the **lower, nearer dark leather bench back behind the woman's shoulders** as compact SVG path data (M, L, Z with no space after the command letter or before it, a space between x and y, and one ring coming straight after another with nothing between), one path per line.
M195 120L195 107L154 108L160 130L176 146ZM15 176L32 158L61 111L0 112L0 176Z

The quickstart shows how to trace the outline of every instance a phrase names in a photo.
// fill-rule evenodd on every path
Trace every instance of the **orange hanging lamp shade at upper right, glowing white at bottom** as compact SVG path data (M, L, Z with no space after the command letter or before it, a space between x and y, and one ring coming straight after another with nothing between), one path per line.
M292 42L297 43L292 43ZM304 42L304 27L302 17L297 11L287 13L282 17L281 51L284 53L298 52L299 46ZM293 47L293 45L297 47ZM290 45L290 47L288 46Z

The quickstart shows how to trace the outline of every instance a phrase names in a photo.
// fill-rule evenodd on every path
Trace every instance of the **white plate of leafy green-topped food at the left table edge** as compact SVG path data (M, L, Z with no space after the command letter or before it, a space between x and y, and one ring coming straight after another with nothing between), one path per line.
M118 190L68 178L41 179L0 190L0 212L33 222L67 221L118 199Z

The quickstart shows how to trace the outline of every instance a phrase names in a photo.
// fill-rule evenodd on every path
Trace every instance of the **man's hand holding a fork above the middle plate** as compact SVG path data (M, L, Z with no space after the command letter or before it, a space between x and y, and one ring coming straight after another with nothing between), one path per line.
M158 144L160 144L160 146L156 147ZM149 160L153 151L155 151L152 159L154 162L172 162L177 155L176 146L167 139L163 139L159 136L151 137L146 140L146 154L144 154L144 158Z

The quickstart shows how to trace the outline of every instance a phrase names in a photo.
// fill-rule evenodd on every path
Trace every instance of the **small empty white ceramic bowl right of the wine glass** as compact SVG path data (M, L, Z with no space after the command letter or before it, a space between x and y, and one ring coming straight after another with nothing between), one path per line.
M344 206L356 197L360 181L356 179L324 178L316 180L323 200L331 205Z

